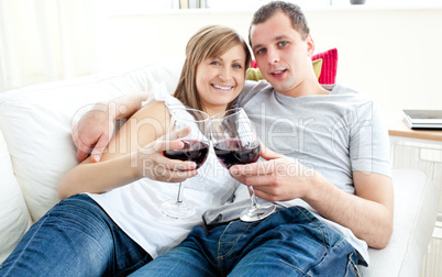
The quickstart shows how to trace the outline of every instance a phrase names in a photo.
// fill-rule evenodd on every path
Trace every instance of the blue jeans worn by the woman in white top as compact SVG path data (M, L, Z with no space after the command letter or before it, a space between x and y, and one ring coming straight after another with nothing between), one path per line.
M0 276L126 276L152 257L90 197L51 209L0 266Z

